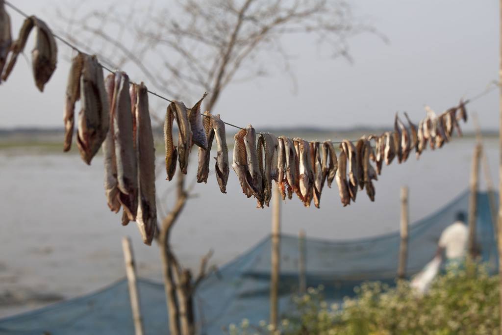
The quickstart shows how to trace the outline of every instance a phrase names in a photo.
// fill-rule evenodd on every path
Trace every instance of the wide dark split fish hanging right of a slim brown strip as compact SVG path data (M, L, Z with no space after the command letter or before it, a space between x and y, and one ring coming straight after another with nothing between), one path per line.
M80 101L77 146L84 162L90 164L106 137L110 122L103 70L95 56L84 55Z

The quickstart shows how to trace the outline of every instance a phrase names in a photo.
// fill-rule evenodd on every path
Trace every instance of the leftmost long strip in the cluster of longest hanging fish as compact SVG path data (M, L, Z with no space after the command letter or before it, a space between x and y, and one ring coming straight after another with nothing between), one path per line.
M114 90L115 90L115 74L109 74L104 81L106 94L109 102L109 130L106 133L106 138L103 141L103 157L104 157L104 191L106 200L110 210L115 213L120 209L120 201L118 201L118 182L117 182L117 164L115 158L115 143L113 140L113 111L114 111Z

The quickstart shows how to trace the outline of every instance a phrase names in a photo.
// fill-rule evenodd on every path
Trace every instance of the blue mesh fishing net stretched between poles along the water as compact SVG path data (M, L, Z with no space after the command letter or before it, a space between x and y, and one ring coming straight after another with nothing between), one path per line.
M498 198L498 195L496 195ZM436 251L439 236L459 210L467 212L469 193L464 192L436 213L415 222L409 232L407 274L419 272ZM488 196L478 194L477 243L481 258L497 271L494 222ZM495 211L497 212L497 211ZM305 241L307 286L324 285L328 301L354 294L354 287L368 280L394 284L399 233L360 240ZM298 292L299 240L281 237L280 313L293 310ZM205 279L195 296L197 327L201 334L221 334L222 327L247 318L251 323L269 318L271 238ZM145 279L138 282L146 334L168 329L164 286ZM95 293L56 303L0 320L0 334L134 334L128 285L125 279Z

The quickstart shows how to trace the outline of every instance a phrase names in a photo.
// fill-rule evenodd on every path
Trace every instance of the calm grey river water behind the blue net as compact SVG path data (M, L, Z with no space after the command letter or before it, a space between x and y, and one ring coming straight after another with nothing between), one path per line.
M360 192L356 203L343 208L336 185L325 186L321 209L288 200L282 205L282 231L298 234L303 228L308 237L344 240L395 231L401 185L410 188L411 222L434 212L467 188L473 147L472 139L456 139L419 160L384 166L374 183L375 202ZM485 152L491 171L498 171L496 140L485 141ZM159 166L162 161L159 156ZM195 163L192 154L188 182ZM498 185L496 175L493 179ZM158 179L164 211L172 205L173 184ZM0 185L0 317L123 277L124 235L132 237L139 275L160 280L159 249L143 245L135 223L122 227L120 214L108 210L101 156L86 166L74 154L0 151ZM182 264L197 268L199 258L213 249L212 263L222 265L269 234L270 208L255 208L256 200L242 194L233 171L227 194L220 193L214 175L207 184L196 184L193 193L172 235Z

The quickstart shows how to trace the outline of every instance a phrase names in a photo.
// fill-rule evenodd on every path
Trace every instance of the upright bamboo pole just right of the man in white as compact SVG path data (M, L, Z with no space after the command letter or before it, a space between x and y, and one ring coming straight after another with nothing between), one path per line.
M476 247L476 218L477 218L477 191L479 179L479 162L481 160L481 144L474 147L472 156L472 169L469 181L469 242L468 250L472 260L477 256Z

